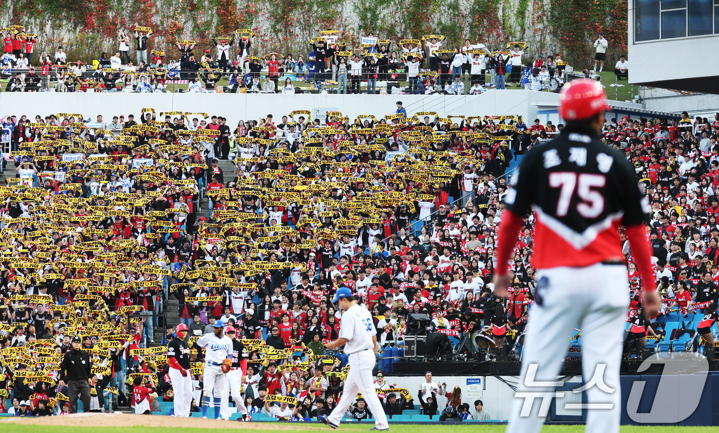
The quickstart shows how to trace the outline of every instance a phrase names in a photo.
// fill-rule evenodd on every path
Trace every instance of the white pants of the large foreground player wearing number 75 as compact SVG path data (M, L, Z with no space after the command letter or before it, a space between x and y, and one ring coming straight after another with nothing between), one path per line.
M522 380L517 391L553 392L554 387L549 385L557 380L569 339L576 332L575 327L581 329L582 375L585 384L594 383L585 385L587 404L591 405L587 406L585 432L618 433L619 368L629 305L626 267L597 263L585 268L538 270L537 276L536 305L529 309ZM527 372L534 368L533 378L527 378ZM603 374L595 376L595 372ZM536 382L544 384L537 386ZM516 396L507 433L539 433L541 430L546 415L546 412L539 413L541 398L534 399L528 416L521 416L526 399ZM592 409L595 405L603 409Z

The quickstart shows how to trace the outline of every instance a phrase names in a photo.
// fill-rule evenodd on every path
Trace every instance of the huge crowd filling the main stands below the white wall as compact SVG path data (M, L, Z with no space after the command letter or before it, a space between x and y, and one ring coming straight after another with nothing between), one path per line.
M223 117L153 109L139 123L132 114L110 123L73 113L2 119L17 172L0 188L3 409L66 412L58 363L73 337L92 357L89 410L171 399L165 345L174 329L157 314L169 298L179 309L165 314L189 328L196 392L196 340L221 322L247 347L248 409L283 418L313 417L340 397L342 354L324 345L337 338L342 313L329 299L341 286L372 311L383 347L426 331L413 328L414 313L431 320L431 332L468 337L459 348L468 358L480 335L496 355L508 352L536 286L530 215L513 290L508 299L493 294L507 170L562 125L408 117L400 102L380 119L309 114L240 120L234 129ZM662 314L710 308L717 298L718 129L719 114L713 123L684 114L604 127L603 140L626 151L651 201ZM237 173L223 173L218 158L233 158ZM637 294L628 319L640 308ZM265 405L267 396L278 406ZM400 411L414 397L383 395ZM417 397L425 406L435 396Z

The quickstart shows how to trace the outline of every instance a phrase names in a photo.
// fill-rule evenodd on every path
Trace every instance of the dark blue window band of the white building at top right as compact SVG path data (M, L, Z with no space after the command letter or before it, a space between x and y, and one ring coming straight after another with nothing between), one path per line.
M634 40L719 34L719 0L636 0Z

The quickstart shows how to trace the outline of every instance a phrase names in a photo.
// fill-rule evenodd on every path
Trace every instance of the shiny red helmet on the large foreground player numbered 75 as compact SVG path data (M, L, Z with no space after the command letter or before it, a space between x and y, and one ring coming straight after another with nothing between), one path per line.
M608 109L607 95L599 81L589 78L570 81L559 94L559 115L565 120L589 119Z

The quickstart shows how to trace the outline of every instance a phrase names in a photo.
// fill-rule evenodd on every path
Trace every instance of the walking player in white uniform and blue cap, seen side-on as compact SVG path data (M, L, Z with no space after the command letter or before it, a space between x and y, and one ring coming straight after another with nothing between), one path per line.
M347 378L344 379L342 398L329 416L320 415L317 419L336 429L339 426L339 420L342 419L359 392L362 393L372 415L375 416L375 427L372 430L389 430L385 409L375 393L372 381L375 353L380 350L377 346L377 331L372 322L372 314L357 305L357 299L347 287L338 288L332 302L337 303L344 313L342 314L339 338L329 342L326 347L333 350L344 345L344 353L349 355L350 367Z

